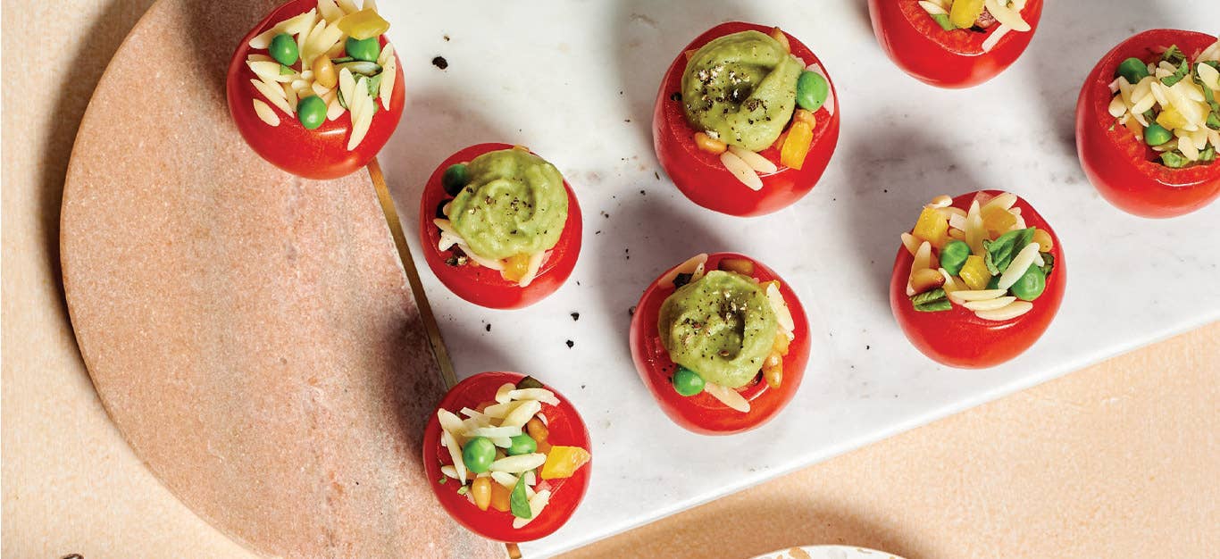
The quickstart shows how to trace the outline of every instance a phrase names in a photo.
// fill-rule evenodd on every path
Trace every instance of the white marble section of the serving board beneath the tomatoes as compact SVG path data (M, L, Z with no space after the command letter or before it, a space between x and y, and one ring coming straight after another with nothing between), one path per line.
M414 223L423 182L467 144L528 145L564 171L584 211L572 280L526 310L467 304L421 273L460 376L537 375L575 400L592 431L594 476L583 507L554 536L522 546L527 557L1220 319L1220 205L1172 221L1121 214L1087 183L1074 144L1076 94L1097 60L1137 31L1220 21L1211 0L1048 1L1025 56L965 92L898 71L876 45L864 0L379 4L394 22L409 100L381 160L412 223L412 250L420 250ZM664 173L654 176L660 77L687 41L728 20L776 23L799 37L825 62L842 105L838 151L817 188L755 220L703 210ZM432 66L437 55L447 71ZM977 188L1015 192L1050 220L1066 250L1069 288L1031 352L997 369L956 371L906 342L886 288L898 234L919 206L933 194ZM670 422L627 349L628 308L644 286L691 254L714 250L748 253L783 275L815 336L792 405L764 428L721 438Z

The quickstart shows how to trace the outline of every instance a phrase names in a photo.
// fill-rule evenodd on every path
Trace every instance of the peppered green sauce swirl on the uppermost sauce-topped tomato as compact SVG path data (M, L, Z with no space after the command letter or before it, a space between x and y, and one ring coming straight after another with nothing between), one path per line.
M727 144L761 151L792 120L802 71L802 63L764 33L716 38L691 56L682 74L687 122Z

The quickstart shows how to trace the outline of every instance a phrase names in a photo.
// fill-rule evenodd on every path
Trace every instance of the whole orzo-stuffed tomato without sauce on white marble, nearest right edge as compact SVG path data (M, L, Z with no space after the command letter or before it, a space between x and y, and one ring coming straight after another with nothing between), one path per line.
M935 361L1005 362L1059 311L1068 284L1059 238L1014 194L939 197L902 239L889 305L906 338Z

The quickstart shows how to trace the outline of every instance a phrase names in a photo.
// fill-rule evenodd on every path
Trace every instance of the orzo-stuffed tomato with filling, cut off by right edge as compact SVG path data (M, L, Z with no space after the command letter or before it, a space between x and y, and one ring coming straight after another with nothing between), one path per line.
M1198 210L1220 195L1220 41L1154 29L1115 46L1076 104L1085 175L1143 217Z

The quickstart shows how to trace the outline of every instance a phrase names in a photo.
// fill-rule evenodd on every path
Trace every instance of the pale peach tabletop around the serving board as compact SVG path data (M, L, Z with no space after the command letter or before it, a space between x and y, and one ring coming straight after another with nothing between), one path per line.
M6 557L251 557L123 442L81 362L59 282L72 140L149 4L2 4ZM1218 362L1214 323L570 557L744 558L813 543L911 559L1208 557L1220 547Z

